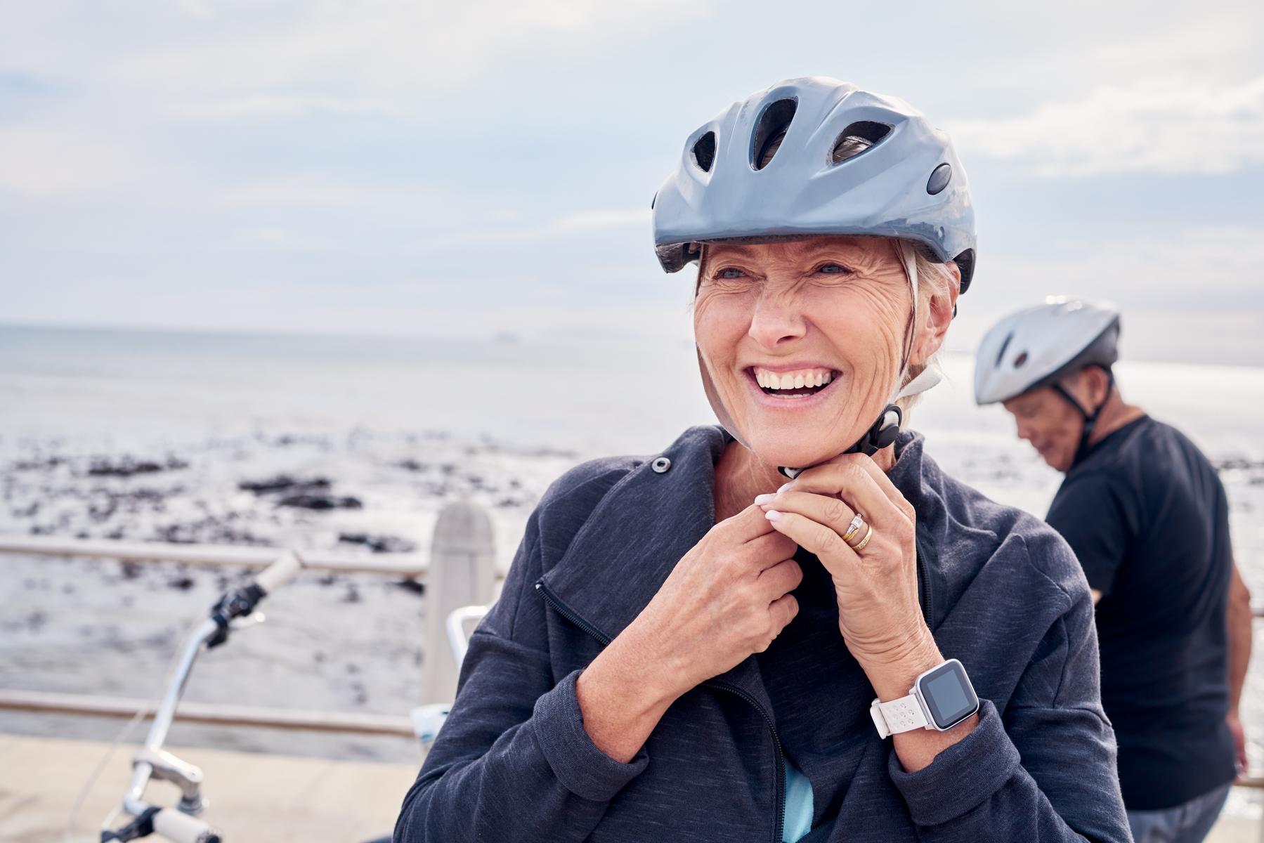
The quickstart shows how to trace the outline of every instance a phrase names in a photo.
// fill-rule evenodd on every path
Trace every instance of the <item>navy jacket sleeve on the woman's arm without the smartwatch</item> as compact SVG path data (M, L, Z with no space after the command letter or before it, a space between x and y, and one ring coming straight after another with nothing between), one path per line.
M648 763L602 752L584 731L575 680L552 681L540 576L540 508L501 599L470 637L456 699L416 782L393 843L583 840L611 799Z

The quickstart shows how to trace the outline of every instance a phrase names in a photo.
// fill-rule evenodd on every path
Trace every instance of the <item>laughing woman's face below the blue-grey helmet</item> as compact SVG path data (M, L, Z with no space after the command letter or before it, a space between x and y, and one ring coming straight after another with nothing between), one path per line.
M889 239L714 243L699 265L694 336L751 449L772 465L813 465L875 422L906 344L910 363L938 348L947 322L914 330L911 301Z

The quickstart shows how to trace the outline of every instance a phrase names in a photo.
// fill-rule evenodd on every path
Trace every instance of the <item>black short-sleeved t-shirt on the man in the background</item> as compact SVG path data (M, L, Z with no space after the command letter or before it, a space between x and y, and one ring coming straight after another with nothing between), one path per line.
M1232 781L1232 550L1211 463L1178 430L1141 416L1067 473L1048 522L1102 593L1102 705L1119 739L1124 805L1172 808Z

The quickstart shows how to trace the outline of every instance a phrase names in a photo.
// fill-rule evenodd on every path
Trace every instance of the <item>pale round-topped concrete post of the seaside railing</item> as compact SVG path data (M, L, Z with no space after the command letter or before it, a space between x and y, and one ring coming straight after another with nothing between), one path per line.
M495 594L495 547L492 519L469 500L439 512L426 571L426 638L421 660L422 703L450 701L456 695L458 666L447 643L449 613L463 605L489 603Z

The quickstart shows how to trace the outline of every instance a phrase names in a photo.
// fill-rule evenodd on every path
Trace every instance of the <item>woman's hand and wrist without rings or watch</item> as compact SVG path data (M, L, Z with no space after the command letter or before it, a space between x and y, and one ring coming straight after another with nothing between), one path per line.
M584 729L629 761L667 708L772 640L799 612L795 543L751 504L685 554L641 614L575 684Z

